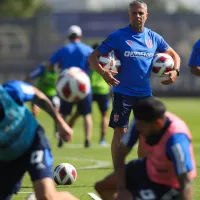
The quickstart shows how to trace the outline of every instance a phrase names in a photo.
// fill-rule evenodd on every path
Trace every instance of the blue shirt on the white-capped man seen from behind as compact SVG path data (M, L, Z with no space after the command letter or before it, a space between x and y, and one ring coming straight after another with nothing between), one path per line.
M87 74L89 72L88 56L92 53L92 47L82 42L70 42L57 50L49 59L54 66L59 64L61 69L80 67Z

